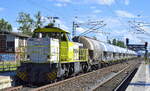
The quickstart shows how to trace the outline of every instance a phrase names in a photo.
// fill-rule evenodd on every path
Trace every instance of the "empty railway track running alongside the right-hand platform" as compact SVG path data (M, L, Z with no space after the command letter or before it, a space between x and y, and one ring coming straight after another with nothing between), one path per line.
M97 85L92 91L125 91L138 66L139 64L125 67L113 77Z

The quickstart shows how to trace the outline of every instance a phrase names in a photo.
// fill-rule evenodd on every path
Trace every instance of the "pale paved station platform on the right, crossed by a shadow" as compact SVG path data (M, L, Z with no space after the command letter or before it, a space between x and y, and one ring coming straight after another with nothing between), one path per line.
M150 64L140 65L126 91L150 91Z

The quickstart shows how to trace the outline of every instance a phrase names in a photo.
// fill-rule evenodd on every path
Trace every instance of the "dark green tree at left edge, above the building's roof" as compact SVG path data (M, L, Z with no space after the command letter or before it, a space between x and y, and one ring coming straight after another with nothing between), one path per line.
M7 30L12 31L12 26L7 21L5 21L3 18L0 19L0 31Z

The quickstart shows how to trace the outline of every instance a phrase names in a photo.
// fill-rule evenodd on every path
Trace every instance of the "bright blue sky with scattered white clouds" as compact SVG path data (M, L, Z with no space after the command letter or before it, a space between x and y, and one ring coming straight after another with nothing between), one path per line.
M150 44L150 26L141 27L148 34L137 33L131 28L129 21L150 23L148 0L0 0L0 18L4 18L17 31L16 22L19 12L30 13L33 17L41 11L43 17L56 16L60 27L72 32L72 22L85 23L89 20L104 21L100 33L89 34L101 41L116 38L131 43ZM87 30L87 27L77 28L77 34Z

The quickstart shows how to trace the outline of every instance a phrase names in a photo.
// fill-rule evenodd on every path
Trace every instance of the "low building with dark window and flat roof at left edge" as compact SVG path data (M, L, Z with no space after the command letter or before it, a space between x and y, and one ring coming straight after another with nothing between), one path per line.
M28 37L20 33L0 31L0 62L22 60Z

